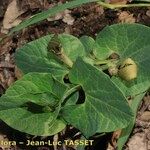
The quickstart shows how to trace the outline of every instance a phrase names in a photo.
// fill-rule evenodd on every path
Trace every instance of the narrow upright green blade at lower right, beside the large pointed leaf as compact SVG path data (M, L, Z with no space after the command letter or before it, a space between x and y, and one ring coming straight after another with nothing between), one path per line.
M117 149L118 150L123 149L124 144L127 142L128 138L132 132L132 129L133 129L134 124L135 124L137 109L138 109L138 106L139 106L142 98L144 97L144 95L145 95L145 93L142 93L142 94L140 94L140 95L138 95L132 99L130 107L131 107L132 111L134 112L134 119L132 122L130 122L130 124L128 125L127 128L122 130L121 136L119 137L118 142L117 142L117 146L118 146Z

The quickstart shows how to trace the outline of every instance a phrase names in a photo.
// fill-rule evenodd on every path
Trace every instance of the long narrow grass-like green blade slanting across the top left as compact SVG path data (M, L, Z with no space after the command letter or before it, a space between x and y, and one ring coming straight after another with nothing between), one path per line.
M50 8L46 11L43 11L41 13L38 13L34 16L32 16L30 19L27 19L20 23L18 26L13 28L9 35L13 34L14 32L20 31L32 24L38 23L48 17L54 16L57 13L60 13L64 11L65 9L75 8L82 4L90 3L90 2L96 2L98 0L73 0L71 2L66 2L65 4L59 4L57 6L54 6L53 8Z

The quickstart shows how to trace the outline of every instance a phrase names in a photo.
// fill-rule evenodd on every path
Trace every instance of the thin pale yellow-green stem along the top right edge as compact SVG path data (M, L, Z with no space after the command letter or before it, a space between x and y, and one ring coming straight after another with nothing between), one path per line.
M116 9L116 8L127 8L127 7L150 7L150 3L141 3L141 4L108 4L105 2L98 1L99 5L110 8L110 9Z

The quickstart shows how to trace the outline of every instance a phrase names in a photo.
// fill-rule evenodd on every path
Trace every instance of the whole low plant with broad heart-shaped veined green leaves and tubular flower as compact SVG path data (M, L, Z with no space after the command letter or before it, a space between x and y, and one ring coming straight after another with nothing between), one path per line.
M24 76L0 98L0 119L41 136L54 135L67 124L86 138L123 129L121 149L150 86L149 39L149 27L116 24L104 28L96 40L60 34L25 44L15 54ZM136 66L136 78L124 80L119 73L110 77L103 72L126 67L127 59L127 66Z

